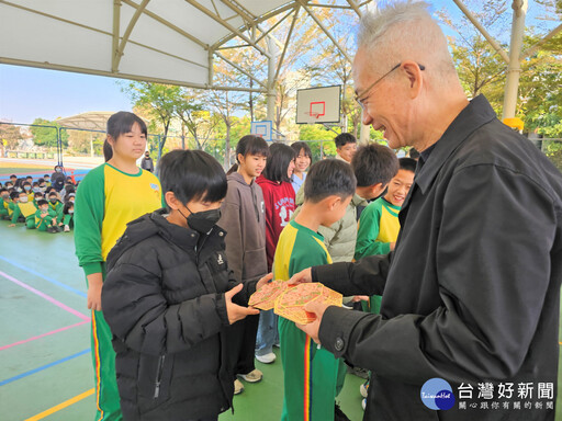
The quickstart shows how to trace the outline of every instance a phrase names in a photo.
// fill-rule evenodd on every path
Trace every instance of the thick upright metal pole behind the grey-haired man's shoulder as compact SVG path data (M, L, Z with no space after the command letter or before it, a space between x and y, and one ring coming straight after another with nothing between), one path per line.
M519 88L519 76L521 73L520 56L528 0L514 0L512 4L514 20L512 23L512 41L509 43L509 65L507 66L507 78L505 82L503 118L515 117L517 107L517 90Z

